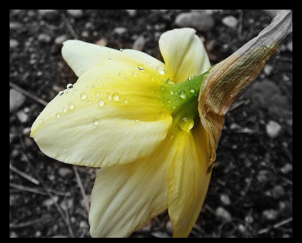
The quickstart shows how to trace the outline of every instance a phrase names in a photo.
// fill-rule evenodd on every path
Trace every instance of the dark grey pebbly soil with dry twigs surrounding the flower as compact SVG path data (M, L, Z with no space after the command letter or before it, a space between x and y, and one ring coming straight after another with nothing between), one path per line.
M250 10L10 10L10 237L90 237L97 169L44 155L34 120L76 75L62 43L80 39L162 60L159 36L193 27L214 65L267 27ZM165 212L130 237L171 237ZM190 237L292 237L292 35L226 115Z

